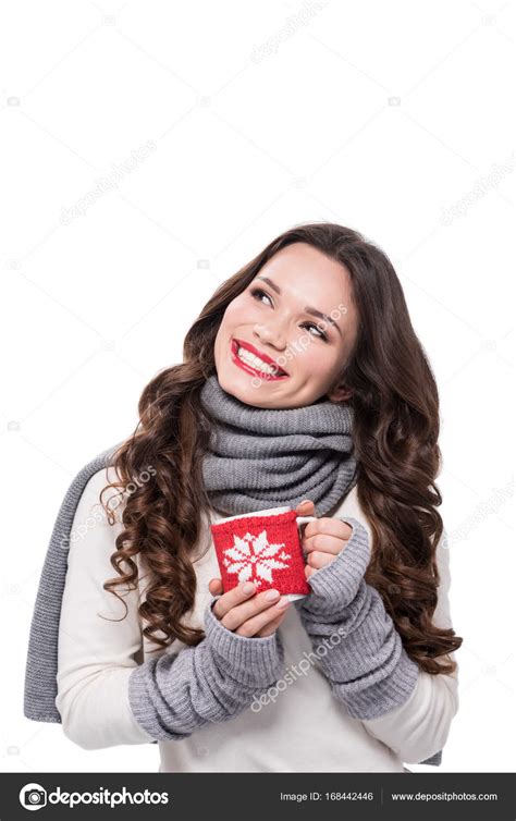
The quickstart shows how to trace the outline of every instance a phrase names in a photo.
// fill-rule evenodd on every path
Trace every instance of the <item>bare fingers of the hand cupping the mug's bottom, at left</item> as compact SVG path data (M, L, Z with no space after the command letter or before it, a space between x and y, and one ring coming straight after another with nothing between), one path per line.
M210 593L219 596L222 589L222 580L212 578L209 584ZM246 581L223 593L214 603L213 613L224 627L237 636L263 638L271 636L280 626L290 603L278 590L257 593L255 585Z

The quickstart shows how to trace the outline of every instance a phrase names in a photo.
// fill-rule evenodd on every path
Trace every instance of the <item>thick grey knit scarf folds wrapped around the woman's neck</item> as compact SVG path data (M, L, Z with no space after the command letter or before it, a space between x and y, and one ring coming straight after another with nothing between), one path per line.
M349 405L255 407L226 393L217 375L200 401L214 422L202 476L217 510L250 513L310 499L323 516L356 483Z

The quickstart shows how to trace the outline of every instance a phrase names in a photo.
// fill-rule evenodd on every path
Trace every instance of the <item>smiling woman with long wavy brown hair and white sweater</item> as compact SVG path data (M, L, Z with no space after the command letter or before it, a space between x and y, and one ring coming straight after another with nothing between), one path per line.
M221 284L138 409L75 512L66 736L158 742L161 771L396 772L439 753L462 638L438 391L385 254L337 224L281 234ZM99 499L107 520L82 528ZM280 504L317 516L310 595L224 595L209 524Z

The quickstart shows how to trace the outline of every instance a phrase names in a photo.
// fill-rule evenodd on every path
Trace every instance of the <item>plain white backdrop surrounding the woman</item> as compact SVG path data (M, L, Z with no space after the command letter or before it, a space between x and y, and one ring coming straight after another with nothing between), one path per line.
M156 745L86 751L23 716L48 540L216 286L312 220L388 253L440 387L464 644L438 771L514 770L514 2L49 0L2 17L0 770L158 770Z

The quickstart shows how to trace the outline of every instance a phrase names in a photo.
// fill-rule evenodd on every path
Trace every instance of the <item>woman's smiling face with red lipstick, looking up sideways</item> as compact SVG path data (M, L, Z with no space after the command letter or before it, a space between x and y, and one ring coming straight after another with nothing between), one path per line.
M307 243L279 250L225 309L214 342L220 387L256 407L347 399L332 389L356 338L352 296L341 262Z

